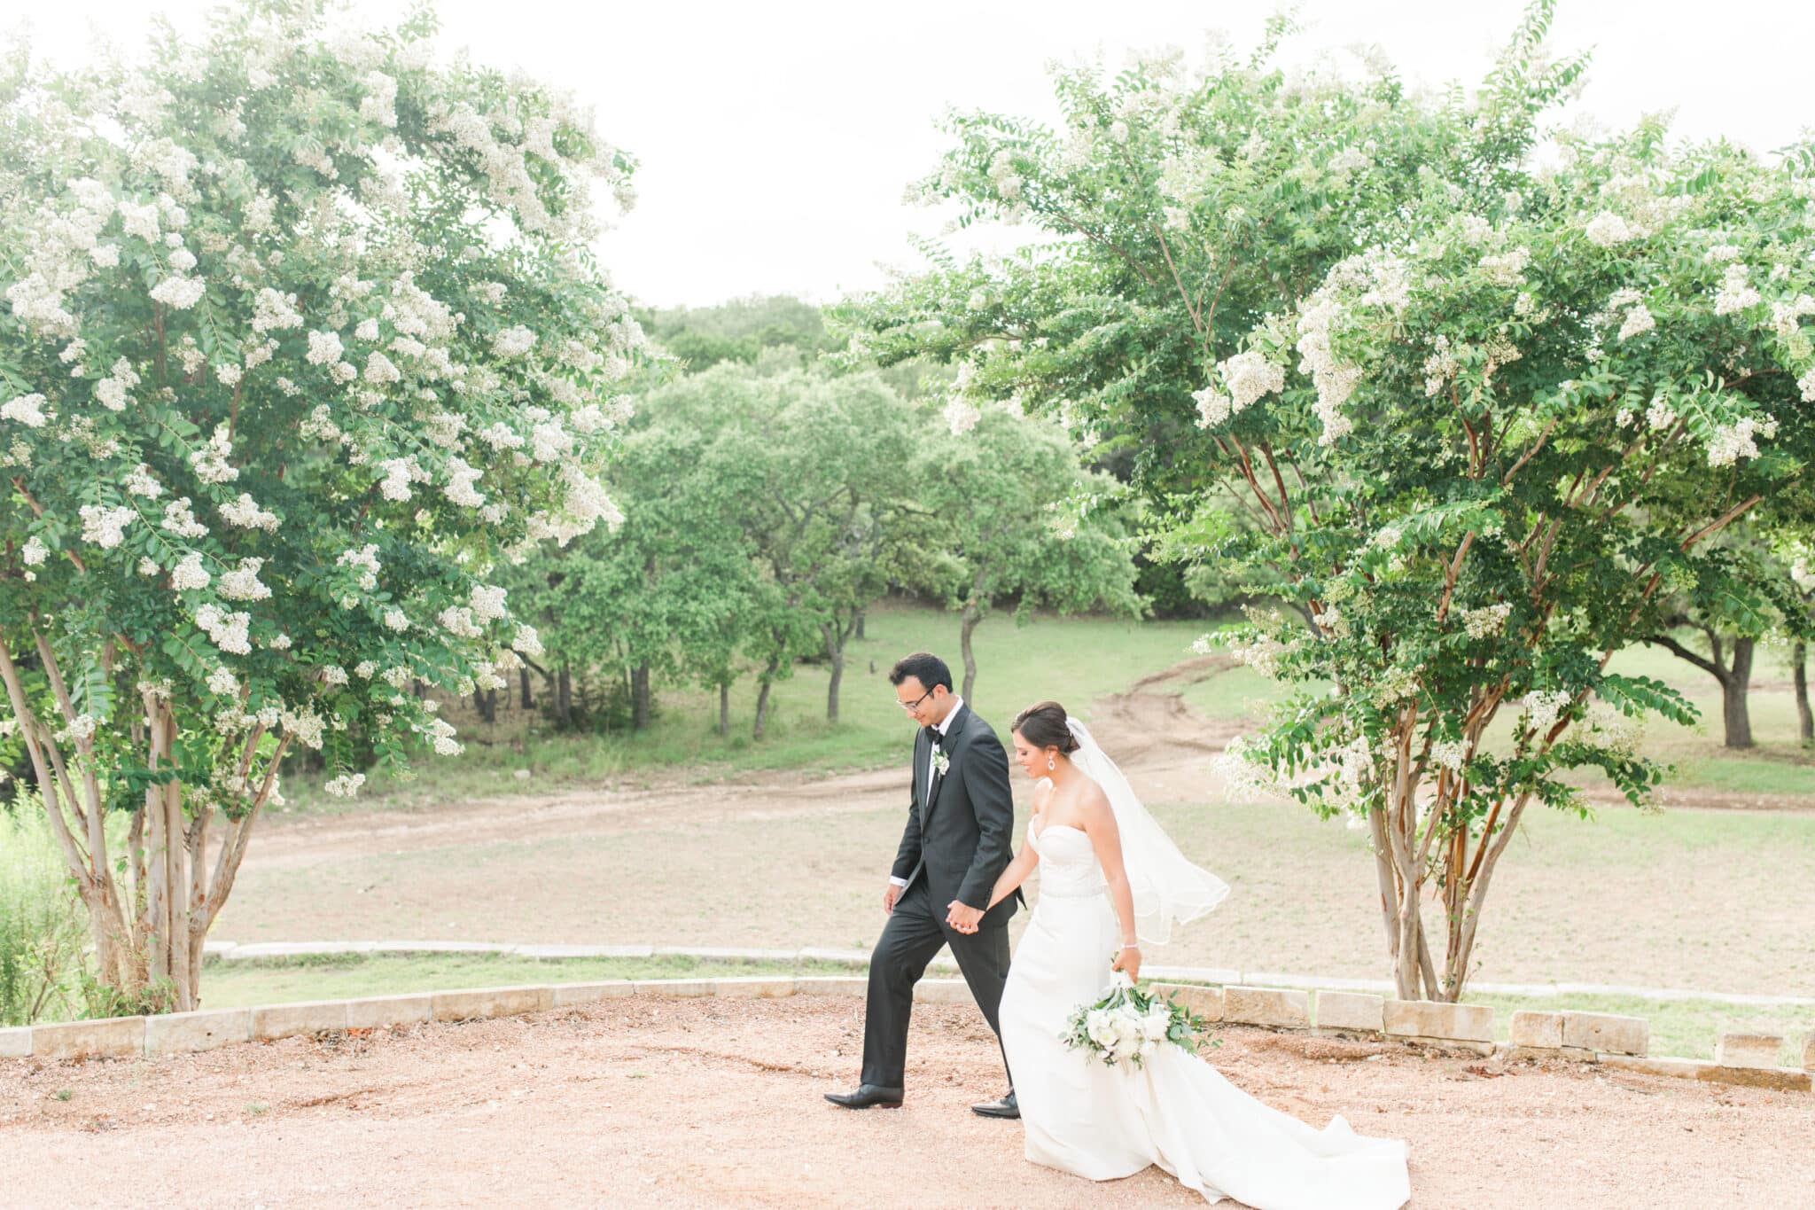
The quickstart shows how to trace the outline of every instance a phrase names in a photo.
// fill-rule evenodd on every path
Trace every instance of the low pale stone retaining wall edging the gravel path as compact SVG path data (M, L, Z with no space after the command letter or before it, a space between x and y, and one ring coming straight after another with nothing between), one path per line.
M864 996L864 976L748 976L722 980L603 980L595 983L537 983L476 987L359 1000L316 1000L256 1009L207 1009L167 1016L131 1016L103 1021L65 1021L0 1029L4 1058L163 1058L240 1041L276 1041L298 1034L476 1021L544 1012L619 996L719 996L770 1000L780 996ZM1715 1083L1784 1090L1811 1090L1815 1036L1804 1039L1802 1069L1779 1067L1784 1039L1764 1034L1722 1034L1715 1059L1648 1056L1643 1018L1608 1012L1514 1012L1512 1045L1496 1047L1494 1010L1425 1000L1388 1000L1365 992L1305 992L1281 987L1203 987L1149 983L1209 1021L1265 1029L1316 1030L1341 1038L1392 1039L1476 1054L1499 1050L1510 1058L1574 1058L1652 1076L1679 1076ZM920 1003L971 1003L964 980L922 980Z

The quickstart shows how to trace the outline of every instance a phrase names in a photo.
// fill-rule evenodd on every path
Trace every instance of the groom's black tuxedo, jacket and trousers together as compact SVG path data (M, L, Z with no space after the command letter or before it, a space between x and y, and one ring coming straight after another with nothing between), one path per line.
M1018 891L989 909L976 932L957 932L946 923L953 900L987 907L996 878L1015 856L1007 753L969 706L958 706L940 737L946 767L927 787L931 747L931 729L924 727L913 746L913 798L893 869L908 885L869 956L864 1083L880 1088L904 1087L913 985L942 945L951 945L976 1007L998 1034L996 1009L1009 976L1007 923Z

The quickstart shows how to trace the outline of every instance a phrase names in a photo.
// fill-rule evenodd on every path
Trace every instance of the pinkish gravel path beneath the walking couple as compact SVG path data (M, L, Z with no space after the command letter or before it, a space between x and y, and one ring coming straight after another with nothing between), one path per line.
M1091 1185L966 1110L1000 1092L969 1005L922 1005L909 1103L851 1114L862 1007L632 998L534 1018L0 1063L7 1206L1189 1206ZM1232 1029L1240 1087L1410 1139L1414 1206L1815 1205L1815 1099Z

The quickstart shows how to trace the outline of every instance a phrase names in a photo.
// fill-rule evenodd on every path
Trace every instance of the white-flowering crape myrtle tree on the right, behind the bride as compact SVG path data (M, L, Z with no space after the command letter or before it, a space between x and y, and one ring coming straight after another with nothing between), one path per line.
M1307 688L1234 758L1367 822L1403 998L1461 994L1528 805L1584 811L1566 771L1646 802L1632 724L1692 711L1606 660L1810 454L1810 158L1646 125L1530 167L1583 65L1539 60L1548 16L1474 100L1263 47L1067 73L1064 136L957 118L929 187L1064 239L864 307L875 356L1142 443L1169 548L1309 615L1240 637ZM1198 513L1231 492L1256 524Z

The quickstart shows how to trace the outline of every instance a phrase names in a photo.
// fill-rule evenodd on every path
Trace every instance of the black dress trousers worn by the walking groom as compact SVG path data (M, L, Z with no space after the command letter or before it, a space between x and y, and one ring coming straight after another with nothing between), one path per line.
M958 971L984 1010L989 1029L1002 1036L996 1010L1002 985L1009 978L1009 929L986 923L976 932L957 932L946 925L944 905L933 905L922 874L895 900L895 912L869 954L869 1003L864 1014L864 1083L902 1088L908 1065L908 1020L913 1014L913 985L926 974L940 945L951 945ZM1007 1067L1007 1058L1004 1058Z

